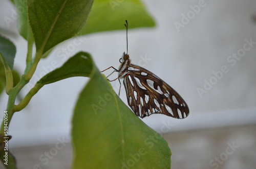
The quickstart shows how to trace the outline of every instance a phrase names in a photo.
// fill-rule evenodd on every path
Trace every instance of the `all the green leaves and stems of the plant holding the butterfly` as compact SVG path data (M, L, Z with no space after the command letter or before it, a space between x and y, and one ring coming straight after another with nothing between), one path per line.
M44 85L70 77L89 77L89 83L79 95L72 120L73 168L170 168L171 153L167 142L125 106L86 52L77 53L42 77L15 104L19 91L33 77L40 59L49 56L53 47L62 41L79 33L124 29L125 19L131 23L129 28L154 26L155 22L143 4L138 0L96 0L94 5L93 0L12 2L18 10L19 34L28 41L28 54L26 69L20 77L13 69L16 47L0 36L0 92L6 87L9 94L8 125L13 114L23 110ZM34 43L36 53L32 56ZM0 138L3 137L4 123L0 129ZM0 149L0 154L3 153ZM8 158L11 163L5 167L16 168L11 153Z

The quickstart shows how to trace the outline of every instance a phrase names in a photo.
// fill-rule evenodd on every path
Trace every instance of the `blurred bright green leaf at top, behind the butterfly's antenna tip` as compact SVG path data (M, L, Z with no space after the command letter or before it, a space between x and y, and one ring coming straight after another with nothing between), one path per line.
M95 0L81 34L125 29L125 19L129 22L129 29L155 26L153 18L138 0Z

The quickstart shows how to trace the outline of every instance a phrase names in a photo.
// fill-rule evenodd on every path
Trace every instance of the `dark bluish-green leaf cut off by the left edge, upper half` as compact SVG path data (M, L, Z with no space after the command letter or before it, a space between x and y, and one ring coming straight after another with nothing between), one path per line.
M5 66L8 66L12 70L14 58L16 54L16 47L9 39L1 35L0 35L0 53L3 55L3 57L7 62Z

